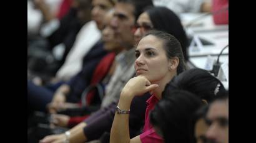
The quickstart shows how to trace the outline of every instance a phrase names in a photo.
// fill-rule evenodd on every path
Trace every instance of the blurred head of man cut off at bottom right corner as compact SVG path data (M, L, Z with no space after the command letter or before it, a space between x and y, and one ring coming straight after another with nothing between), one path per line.
M205 122L209 126L205 132L206 142L229 142L229 97L222 96L209 106Z

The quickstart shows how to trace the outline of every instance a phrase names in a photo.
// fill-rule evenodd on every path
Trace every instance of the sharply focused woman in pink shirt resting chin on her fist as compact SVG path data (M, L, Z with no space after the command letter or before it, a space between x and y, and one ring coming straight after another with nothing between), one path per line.
M184 71L184 58L179 41L170 34L152 30L140 39L135 50L136 77L122 89L111 128L110 142L163 142L149 122L149 112L162 98L165 85ZM135 96L150 92L142 134L130 139L129 112Z

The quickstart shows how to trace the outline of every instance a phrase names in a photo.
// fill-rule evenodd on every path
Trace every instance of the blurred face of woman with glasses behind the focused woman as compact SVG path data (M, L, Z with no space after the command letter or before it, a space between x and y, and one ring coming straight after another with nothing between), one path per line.
M152 30L153 27L154 26L150 21L149 14L147 14L147 12L143 12L142 14L140 14L135 24L135 32L134 32L135 45L139 43L139 40L142 37L142 35L144 35L145 32L147 32L148 30Z

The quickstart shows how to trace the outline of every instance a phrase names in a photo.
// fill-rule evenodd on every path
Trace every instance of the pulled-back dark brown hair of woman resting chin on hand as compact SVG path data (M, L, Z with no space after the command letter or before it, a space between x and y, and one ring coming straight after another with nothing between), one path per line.
M143 35L142 38L147 35L154 35L158 39L161 39L164 41L164 49L165 49L167 58L169 59L174 57L179 58L177 74L182 73L184 70L186 70L184 55L183 55L179 40L177 40L173 35L160 30L150 30L149 32L145 33L145 35Z

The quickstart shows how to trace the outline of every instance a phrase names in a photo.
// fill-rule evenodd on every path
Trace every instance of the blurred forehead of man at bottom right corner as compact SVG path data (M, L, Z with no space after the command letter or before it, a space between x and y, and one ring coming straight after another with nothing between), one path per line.
M227 101L215 101L210 105L207 118L215 119L219 117L225 117L229 119L229 107Z

